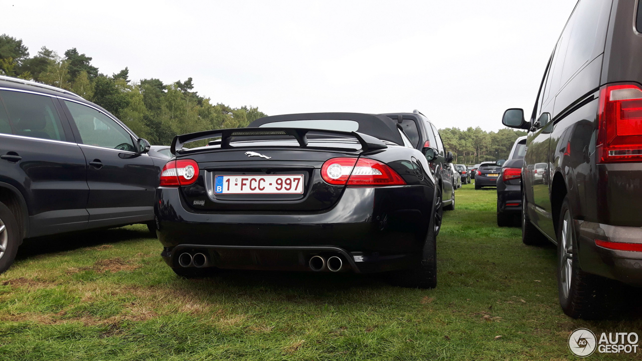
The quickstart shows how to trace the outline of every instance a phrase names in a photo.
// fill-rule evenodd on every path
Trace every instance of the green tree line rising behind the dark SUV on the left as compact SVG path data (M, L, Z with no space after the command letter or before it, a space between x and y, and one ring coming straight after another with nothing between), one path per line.
M107 109L153 145L169 145L176 134L247 127L266 116L257 107L232 108L193 91L192 78L164 84L134 82L129 69L100 73L92 57L71 48L62 56L43 46L33 57L21 39L0 35L0 73L73 91Z

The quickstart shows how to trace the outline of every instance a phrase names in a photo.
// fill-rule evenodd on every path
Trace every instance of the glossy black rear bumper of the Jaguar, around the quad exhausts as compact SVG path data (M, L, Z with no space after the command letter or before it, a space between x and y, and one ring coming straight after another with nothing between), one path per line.
M421 254L433 191L346 188L325 211L250 213L196 211L179 189L158 188L155 215L170 267L178 267L177 253L187 247L214 252L221 268L306 270L309 257L334 247L352 260L354 272L379 272L408 267Z

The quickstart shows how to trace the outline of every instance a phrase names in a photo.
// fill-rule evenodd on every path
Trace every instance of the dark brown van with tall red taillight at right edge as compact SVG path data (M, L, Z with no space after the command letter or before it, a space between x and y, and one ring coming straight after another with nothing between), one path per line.
M641 32L642 1L578 1L530 121L504 113L505 125L529 131L522 239L557 244L571 317L606 317L626 294L618 281L642 285Z

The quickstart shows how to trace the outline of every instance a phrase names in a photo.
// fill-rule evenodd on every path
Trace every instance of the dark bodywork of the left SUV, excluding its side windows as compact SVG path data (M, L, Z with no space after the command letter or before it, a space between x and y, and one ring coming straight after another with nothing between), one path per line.
M50 97L64 130L64 141L0 134L0 155L17 157L0 160L0 196L14 205L23 238L153 220L154 192L166 159L83 145L69 110L60 100L100 110L127 130L132 142L137 139L107 110L90 101L7 80L0 80L0 89ZM1 94L0 105L0 111L7 109ZM94 161L103 166L91 166Z

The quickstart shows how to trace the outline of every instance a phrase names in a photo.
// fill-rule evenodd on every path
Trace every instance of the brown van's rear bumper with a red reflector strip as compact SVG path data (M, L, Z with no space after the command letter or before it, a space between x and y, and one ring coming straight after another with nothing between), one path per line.
M642 286L642 252L618 251L596 245L595 240L642 245L642 227L623 227L582 220L579 230L580 267L586 272Z

